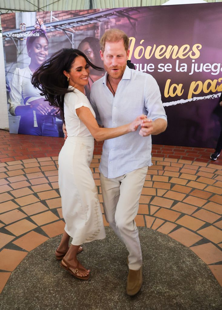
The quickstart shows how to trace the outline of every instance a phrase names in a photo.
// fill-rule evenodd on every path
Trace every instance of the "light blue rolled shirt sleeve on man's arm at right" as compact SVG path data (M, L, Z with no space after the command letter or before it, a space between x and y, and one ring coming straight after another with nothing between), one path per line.
M144 88L145 108L148 112L147 117L153 121L158 118L163 118L167 122L159 86L157 81L150 74L147 77Z

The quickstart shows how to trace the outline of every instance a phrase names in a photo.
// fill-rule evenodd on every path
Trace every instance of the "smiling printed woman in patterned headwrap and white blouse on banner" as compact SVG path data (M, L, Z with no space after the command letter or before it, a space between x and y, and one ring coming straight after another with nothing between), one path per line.
M29 36L26 41L30 64L24 69L16 68L10 82L9 112L21 117L19 134L58 137L56 115L59 110L44 101L45 97L31 83L32 74L48 56L48 38L43 21L38 19L34 27L30 34L39 35Z

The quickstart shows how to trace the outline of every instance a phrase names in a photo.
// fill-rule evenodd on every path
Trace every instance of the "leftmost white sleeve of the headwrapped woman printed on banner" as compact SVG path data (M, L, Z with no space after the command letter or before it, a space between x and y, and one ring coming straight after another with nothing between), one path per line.
M19 68L16 68L12 75L10 89L8 99L9 112L11 115L16 116L15 109L17 106L21 105L22 102L22 77Z

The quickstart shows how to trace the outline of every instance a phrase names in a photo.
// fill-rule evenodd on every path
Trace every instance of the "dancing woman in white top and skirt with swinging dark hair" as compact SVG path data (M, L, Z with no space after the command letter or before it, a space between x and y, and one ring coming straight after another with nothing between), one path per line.
M105 238L97 189L90 169L94 138L112 139L136 131L144 115L116 128L100 128L95 120L84 86L88 84L92 64L76 49L62 49L51 56L33 74L32 83L56 108L66 124L68 137L59 154L59 189L64 234L56 250L60 266L78 279L88 280L90 270L77 260L79 245ZM69 247L69 238L72 243Z

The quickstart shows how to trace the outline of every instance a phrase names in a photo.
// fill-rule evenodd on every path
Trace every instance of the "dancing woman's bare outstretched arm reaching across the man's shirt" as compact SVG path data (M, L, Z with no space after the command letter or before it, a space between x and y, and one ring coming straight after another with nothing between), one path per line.
M76 114L78 118L84 123L84 125L87 126L92 136L98 142L116 138L131 131L136 131L142 123L143 118L146 117L145 115L141 115L129 124L115 128L100 128L89 108L84 106L77 108Z

